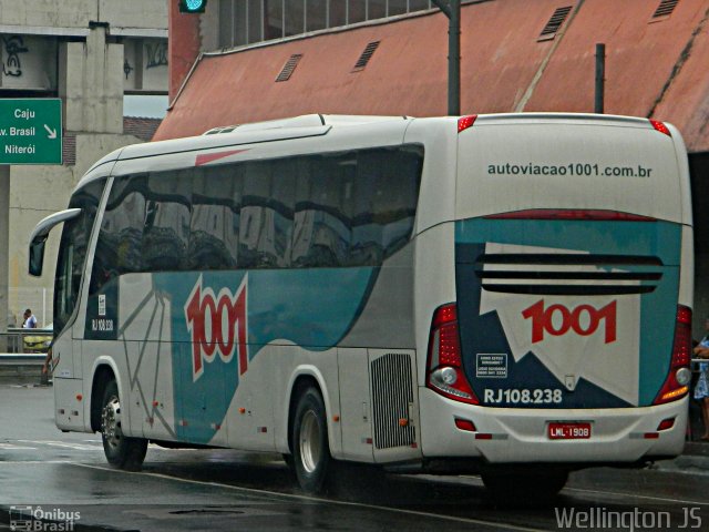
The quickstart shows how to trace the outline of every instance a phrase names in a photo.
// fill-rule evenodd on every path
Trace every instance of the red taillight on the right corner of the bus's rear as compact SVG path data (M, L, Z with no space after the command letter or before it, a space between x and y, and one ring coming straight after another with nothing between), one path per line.
M653 405L681 399L689 392L691 371L691 308L684 305L677 306L677 320L675 323L675 341L672 342L672 359L669 372L660 392Z

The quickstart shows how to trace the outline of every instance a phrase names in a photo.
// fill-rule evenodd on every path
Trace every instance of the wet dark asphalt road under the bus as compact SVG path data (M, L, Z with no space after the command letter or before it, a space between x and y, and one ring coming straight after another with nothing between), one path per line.
M351 468L314 498L270 454L151 446L141 473L112 470L97 434L62 433L51 412L51 388L0 383L0 531L709 531L709 471L589 469L525 508L501 507L476 477Z

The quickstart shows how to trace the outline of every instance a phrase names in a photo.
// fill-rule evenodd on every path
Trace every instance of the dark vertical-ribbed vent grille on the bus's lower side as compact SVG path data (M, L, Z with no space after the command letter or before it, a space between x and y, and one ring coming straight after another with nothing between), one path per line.
M370 375L374 446L377 449L410 447L415 442L415 430L409 421L409 408L413 403L411 357L387 354L371 362Z

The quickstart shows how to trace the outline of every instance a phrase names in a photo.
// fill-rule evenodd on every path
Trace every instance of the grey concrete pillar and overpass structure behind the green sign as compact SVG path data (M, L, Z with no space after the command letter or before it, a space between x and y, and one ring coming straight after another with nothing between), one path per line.
M0 0L0 98L59 98L63 126L62 164L12 165L0 183L9 194L8 287L0 289L0 307L7 306L10 325L13 318L21 324L25 307L40 325L52 320L59 238L50 236L43 276L28 276L34 225L66 207L97 158L146 140L150 125L126 121L123 102L126 94L167 93L167 3Z

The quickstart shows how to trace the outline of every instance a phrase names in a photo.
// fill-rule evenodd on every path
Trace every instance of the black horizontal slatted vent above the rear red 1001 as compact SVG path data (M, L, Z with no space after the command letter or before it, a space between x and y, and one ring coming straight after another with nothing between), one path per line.
M658 257L585 254L484 254L475 275L487 291L532 295L647 294L662 278Z

